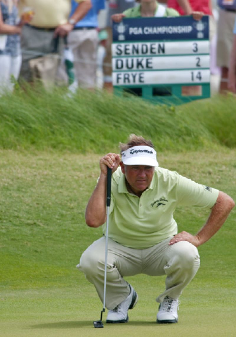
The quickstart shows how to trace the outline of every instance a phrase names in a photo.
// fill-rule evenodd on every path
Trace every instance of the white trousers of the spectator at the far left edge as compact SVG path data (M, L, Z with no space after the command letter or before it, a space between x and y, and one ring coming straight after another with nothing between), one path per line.
M11 57L9 55L0 55L0 95L4 91L12 91L14 84L11 76L17 80L21 68L21 55Z

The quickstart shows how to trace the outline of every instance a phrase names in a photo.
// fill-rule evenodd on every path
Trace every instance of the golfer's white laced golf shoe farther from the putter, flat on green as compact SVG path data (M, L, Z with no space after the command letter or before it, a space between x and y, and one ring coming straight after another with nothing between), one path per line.
M156 316L157 323L177 323L178 322L178 300L169 296L160 303L159 311Z

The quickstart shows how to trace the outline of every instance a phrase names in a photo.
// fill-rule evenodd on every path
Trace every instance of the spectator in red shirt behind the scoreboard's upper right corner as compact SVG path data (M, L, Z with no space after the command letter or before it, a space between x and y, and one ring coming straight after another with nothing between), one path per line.
M209 39L213 38L216 24L211 0L168 0L167 6L176 9L180 15L193 15L195 20L200 20L203 15L209 15Z

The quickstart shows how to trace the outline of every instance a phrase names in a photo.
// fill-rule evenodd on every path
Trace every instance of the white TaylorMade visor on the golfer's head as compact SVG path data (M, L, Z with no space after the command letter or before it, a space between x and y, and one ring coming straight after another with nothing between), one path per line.
M134 146L122 151L121 157L125 165L158 166L156 151L150 146Z

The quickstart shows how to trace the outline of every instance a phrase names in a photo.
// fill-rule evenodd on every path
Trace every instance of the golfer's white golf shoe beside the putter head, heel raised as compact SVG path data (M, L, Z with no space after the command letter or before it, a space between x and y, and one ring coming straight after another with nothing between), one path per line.
M133 309L139 298L135 289L130 284L129 287L129 296L113 310L108 311L106 323L126 323L128 321L128 309Z

